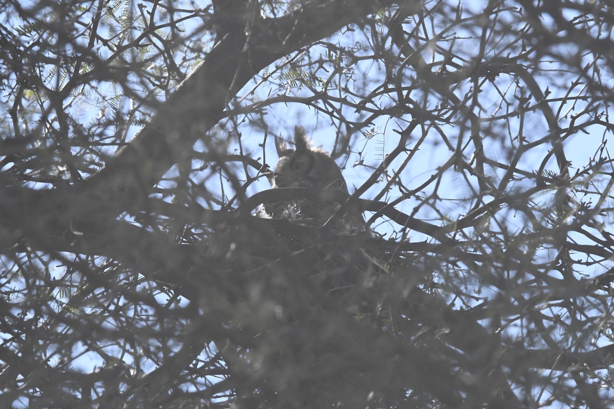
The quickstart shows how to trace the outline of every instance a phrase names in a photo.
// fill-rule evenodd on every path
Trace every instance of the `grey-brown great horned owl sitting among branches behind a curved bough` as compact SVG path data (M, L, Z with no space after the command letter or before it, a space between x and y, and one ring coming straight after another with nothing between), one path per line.
M302 127L294 128L294 150L278 143L276 147L279 161L269 180L271 188L335 189L348 193L341 169L326 151L309 146ZM268 202L263 204L262 210L265 216L287 219L305 226L327 225L338 234L352 234L365 228L362 214L357 210L346 210L332 218L340 208L340 202L296 199Z

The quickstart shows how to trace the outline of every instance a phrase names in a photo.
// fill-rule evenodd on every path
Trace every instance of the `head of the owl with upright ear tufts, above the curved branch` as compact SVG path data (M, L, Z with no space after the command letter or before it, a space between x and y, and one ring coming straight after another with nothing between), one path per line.
M302 126L294 128L294 150L275 141L279 162L270 178L271 188L321 188L348 192L341 169L328 153L313 148Z

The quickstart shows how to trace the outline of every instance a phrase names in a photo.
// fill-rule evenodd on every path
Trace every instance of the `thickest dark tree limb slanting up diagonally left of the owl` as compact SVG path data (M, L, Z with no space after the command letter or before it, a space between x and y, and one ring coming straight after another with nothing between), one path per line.
M227 102L264 67L287 53L330 36L371 12L369 0L314 2L280 18L257 15L245 39L218 42L155 117L98 173L74 186L54 189L50 206L64 218L115 217L142 201L173 164L222 117ZM207 144L207 143L206 143ZM91 207L74 205L85 199Z

